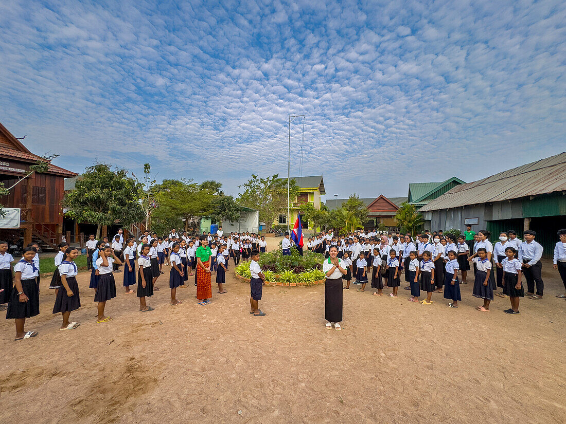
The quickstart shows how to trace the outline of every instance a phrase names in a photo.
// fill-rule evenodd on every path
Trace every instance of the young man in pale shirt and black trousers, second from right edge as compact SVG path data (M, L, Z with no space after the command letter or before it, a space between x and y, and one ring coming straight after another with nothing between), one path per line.
M544 282L542 280L542 246L534 240L537 233L533 230L523 232L525 241L519 248L518 259L523 263L523 273L527 280L527 295L530 299L542 299L544 293ZM537 284L537 293L534 293L534 286Z

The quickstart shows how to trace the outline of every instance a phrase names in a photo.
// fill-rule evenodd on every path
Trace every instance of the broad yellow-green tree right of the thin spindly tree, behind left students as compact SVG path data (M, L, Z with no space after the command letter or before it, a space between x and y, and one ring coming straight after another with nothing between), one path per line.
M208 217L213 213L214 194L192 180L163 180L155 190L159 207L153 216L171 223L180 219L185 231L191 224L196 226L200 217Z

